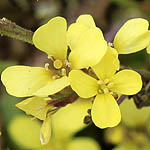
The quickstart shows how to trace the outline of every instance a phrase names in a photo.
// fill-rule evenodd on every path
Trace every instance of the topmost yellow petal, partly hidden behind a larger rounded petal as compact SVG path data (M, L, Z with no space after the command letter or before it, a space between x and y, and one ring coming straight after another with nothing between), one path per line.
M76 23L69 26L67 31L67 40L71 50L76 47L79 37L90 27L96 27L91 15L80 15L77 18Z

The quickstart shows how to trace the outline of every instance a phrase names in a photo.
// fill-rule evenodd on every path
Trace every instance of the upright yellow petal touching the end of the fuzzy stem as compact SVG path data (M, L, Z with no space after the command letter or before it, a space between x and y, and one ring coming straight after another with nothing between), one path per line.
M35 31L33 43L48 55L64 60L67 55L66 30L66 20L62 17L55 17Z

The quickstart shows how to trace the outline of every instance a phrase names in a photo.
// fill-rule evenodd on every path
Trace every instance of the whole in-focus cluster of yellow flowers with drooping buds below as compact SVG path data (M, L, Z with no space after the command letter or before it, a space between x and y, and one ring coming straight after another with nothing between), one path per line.
M9 94L29 97L18 103L18 108L44 120L41 128L43 144L51 135L52 114L72 103L70 97L73 95L91 102L90 115L96 126L114 127L120 122L116 95L138 93L142 80L140 74L133 70L118 72L118 54L134 53L146 47L149 51L148 26L145 19L131 19L120 28L111 44L104 39L90 15L79 16L68 29L64 18L55 17L35 31L33 43L48 55L49 63L44 68L8 67L1 79ZM73 94L62 100L61 96L67 95L68 91L71 93L68 89ZM62 91L65 92L59 95L60 100L55 100L54 95Z

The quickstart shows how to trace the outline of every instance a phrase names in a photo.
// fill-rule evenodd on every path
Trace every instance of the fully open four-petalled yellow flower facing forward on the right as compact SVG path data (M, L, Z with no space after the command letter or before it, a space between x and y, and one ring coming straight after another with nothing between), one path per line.
M119 69L119 61L115 49L111 47L102 60L92 68L98 79L81 70L72 70L69 73L71 87L80 97L96 96L91 111L96 126L114 127L120 122L121 115L113 94L136 94L142 88L141 76L128 69L115 74Z

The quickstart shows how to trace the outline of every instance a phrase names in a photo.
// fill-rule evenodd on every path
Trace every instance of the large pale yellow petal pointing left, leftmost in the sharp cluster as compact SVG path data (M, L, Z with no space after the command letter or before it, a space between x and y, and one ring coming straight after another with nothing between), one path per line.
M9 94L17 97L32 96L51 82L52 72L41 67L12 66L5 69L1 80Z

